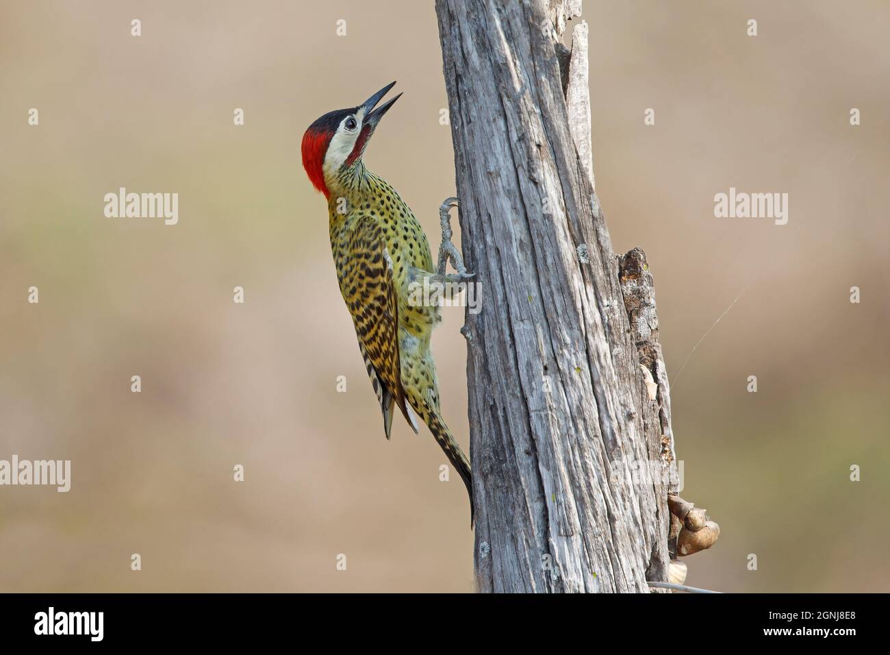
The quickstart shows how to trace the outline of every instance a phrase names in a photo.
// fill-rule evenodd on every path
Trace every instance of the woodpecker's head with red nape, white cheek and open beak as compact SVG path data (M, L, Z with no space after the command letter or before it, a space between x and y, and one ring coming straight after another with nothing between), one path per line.
M326 196L330 196L331 183L343 169L361 160L377 123L400 98L401 94L376 106L394 85L384 86L358 107L328 111L303 134L303 168L312 185Z

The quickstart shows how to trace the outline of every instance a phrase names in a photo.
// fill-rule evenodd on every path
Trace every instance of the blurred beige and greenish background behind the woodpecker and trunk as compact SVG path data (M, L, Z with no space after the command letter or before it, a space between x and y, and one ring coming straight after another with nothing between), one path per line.
M722 528L687 584L890 591L890 5L584 5L597 192L615 250L648 253L684 497ZM432 3L0 6L0 459L72 461L68 494L0 487L0 591L472 591L463 485L425 431L384 439L299 156L393 79L365 159L435 248L455 187ZM179 224L104 217L121 186L178 192ZM788 192L788 225L715 218L731 186Z

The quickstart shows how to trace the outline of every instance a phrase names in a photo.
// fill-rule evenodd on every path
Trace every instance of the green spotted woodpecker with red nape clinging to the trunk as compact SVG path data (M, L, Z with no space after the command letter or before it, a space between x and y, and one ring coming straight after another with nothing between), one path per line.
M436 303L418 303L412 289L462 281L467 274L445 233L450 198L440 209L443 227L439 269L423 228L409 206L384 179L365 167L362 156L384 114L401 94L377 103L395 85L384 86L365 102L329 111L303 134L303 168L328 199L331 250L337 281L359 337L361 356L390 438L393 406L417 432L415 413L425 422L470 496L470 463L442 419L436 368L430 352L433 327L441 320ZM446 259L457 275L445 275ZM441 288L441 287L440 287ZM409 299L413 299L409 301Z

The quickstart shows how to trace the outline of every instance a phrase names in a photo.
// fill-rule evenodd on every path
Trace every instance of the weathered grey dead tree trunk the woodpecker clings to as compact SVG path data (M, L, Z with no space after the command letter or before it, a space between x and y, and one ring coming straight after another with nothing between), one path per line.
M669 404L660 350L642 367L637 352L638 332L657 341L651 285L627 307L633 334L625 308L648 266L639 251L619 278L594 192L587 26L571 51L558 40L580 0L437 0L436 12L481 294L462 330L478 587L648 591L667 577L668 489L643 467L672 461Z

